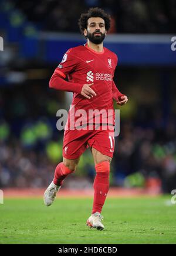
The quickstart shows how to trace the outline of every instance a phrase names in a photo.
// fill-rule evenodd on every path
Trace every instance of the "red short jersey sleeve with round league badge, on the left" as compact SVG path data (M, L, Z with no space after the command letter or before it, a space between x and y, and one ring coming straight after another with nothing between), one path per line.
M70 48L65 55L63 55L63 59L60 62L57 70L60 71L60 74L63 74L63 77L69 75L73 72L77 65L77 58L74 54L73 48Z

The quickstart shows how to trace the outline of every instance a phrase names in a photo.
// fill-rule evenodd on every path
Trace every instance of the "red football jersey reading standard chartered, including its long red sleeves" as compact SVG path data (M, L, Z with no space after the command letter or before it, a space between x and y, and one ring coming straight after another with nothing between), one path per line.
M75 48L70 48L63 56L62 62L55 69L55 72L50 79L50 87L62 89L73 92L73 108L69 111L68 125L78 125L76 120L84 115L86 111L87 116L83 119L82 124L96 123L96 111L101 111L100 123L114 124L114 109L113 98L118 101L118 97L122 94L116 88L113 82L114 70L117 65L117 55L107 48L103 48L103 52L96 52L89 48L87 44L80 45ZM57 78L68 78L69 82ZM87 99L84 98L80 92L84 84L92 84L91 88L96 92L96 96ZM75 112L78 109L78 114ZM104 114L106 111L106 114ZM93 112L93 115L92 115ZM77 117L76 117L77 115ZM74 117L73 117L74 116ZM92 118L93 117L93 118ZM73 121L74 120L74 121ZM79 126L79 125L78 125Z

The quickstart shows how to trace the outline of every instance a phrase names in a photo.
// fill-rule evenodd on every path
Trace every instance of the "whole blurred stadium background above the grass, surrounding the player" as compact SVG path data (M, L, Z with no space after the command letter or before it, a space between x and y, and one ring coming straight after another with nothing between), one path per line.
M128 95L120 108L120 136L111 187L154 194L176 189L176 36L174 0L1 0L0 188L46 188L62 161L56 112L72 95L49 89L68 48L84 44L77 20L89 7L111 14L104 46L116 52L116 85ZM69 6L68 6L69 5ZM92 188L90 151L65 188Z

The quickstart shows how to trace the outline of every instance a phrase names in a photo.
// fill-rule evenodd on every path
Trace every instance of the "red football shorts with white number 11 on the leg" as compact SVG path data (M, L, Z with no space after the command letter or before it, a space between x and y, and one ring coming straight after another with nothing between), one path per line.
M66 130L63 138L63 157L76 159L87 148L95 148L103 155L113 157L114 153L114 131L103 130Z

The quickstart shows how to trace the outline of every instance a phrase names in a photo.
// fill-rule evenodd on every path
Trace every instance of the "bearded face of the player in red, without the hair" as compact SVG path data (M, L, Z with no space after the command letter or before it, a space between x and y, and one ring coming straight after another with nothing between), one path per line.
M87 36L93 44L101 44L106 36L104 19L99 17L89 18L87 21L87 29L84 30L84 35Z

